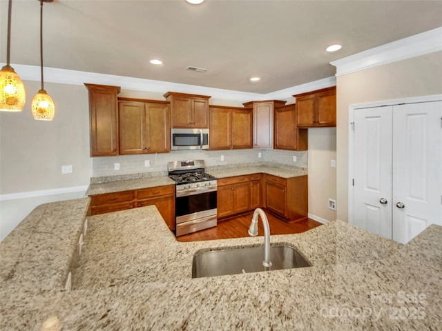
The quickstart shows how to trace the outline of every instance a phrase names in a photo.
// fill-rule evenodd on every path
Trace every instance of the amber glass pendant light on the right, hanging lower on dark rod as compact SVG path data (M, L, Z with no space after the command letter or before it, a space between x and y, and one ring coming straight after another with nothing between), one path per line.
M32 99L32 116L34 119L43 121L52 121L55 114L54 101L50 95L44 90L43 85L43 3L52 2L53 0L39 0L40 1L40 73L41 73L41 89L35 94Z

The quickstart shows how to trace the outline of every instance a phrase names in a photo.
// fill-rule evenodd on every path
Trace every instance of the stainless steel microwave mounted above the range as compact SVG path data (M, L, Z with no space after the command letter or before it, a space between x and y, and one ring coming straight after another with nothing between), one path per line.
M171 150L208 150L209 129L171 129Z

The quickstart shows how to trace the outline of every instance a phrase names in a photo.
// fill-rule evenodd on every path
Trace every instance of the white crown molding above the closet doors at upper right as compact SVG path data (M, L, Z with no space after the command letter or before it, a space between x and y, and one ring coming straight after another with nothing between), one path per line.
M330 64L336 67L336 76L340 76L439 51L442 51L442 28L385 43L349 57L332 61Z

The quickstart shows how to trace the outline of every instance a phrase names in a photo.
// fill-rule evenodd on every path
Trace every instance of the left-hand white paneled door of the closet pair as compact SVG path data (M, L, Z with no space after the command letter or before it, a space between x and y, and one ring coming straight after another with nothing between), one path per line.
M392 239L392 106L354 114L354 225Z

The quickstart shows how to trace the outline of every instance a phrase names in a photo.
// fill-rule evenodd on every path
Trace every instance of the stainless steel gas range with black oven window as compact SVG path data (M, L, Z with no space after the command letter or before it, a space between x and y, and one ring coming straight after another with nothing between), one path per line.
M216 178L204 172L204 160L173 161L168 168L176 182L176 236L216 226Z

